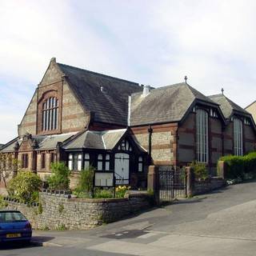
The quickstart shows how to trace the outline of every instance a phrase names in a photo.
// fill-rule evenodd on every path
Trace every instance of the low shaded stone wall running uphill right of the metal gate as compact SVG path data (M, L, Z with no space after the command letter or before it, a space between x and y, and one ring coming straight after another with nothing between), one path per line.
M205 194L212 190L216 190L225 186L225 180L223 178L213 177L206 181L194 181L193 195Z

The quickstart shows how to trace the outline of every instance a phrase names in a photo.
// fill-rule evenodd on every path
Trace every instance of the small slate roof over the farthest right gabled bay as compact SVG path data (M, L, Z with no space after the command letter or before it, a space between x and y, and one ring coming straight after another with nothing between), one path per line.
M233 111L250 115L248 111L244 110L241 106L238 106L238 104L232 102L229 98L226 98L226 96L223 94L211 95L209 98L220 105L222 113L226 119L230 118Z

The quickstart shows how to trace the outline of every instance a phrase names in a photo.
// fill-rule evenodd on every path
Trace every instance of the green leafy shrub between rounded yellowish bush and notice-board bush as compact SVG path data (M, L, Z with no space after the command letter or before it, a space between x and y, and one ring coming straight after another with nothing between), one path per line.
M53 162L50 165L51 174L47 179L52 190L69 190L71 171L64 162Z

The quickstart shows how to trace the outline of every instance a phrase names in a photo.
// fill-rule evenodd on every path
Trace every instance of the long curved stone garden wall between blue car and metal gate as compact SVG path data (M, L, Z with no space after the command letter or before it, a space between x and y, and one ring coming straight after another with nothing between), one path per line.
M42 192L41 205L5 201L6 209L20 210L34 229L50 230L87 230L150 207L150 196L145 193L126 194L126 198L93 199Z

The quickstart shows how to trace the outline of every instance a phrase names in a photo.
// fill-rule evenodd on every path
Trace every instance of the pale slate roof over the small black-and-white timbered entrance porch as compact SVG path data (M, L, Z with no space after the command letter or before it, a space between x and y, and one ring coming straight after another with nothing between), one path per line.
M104 131L86 130L63 147L66 150L112 150L125 133L126 129Z

